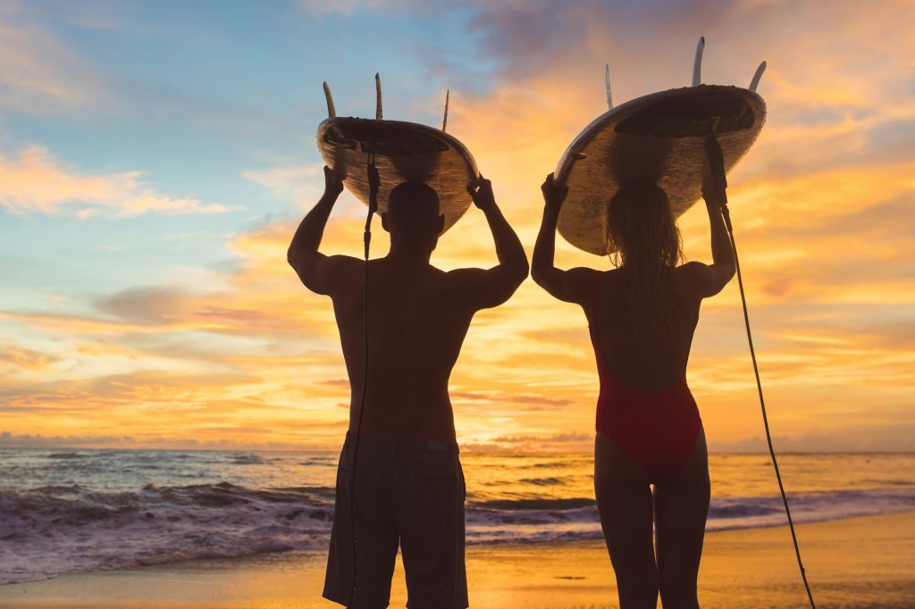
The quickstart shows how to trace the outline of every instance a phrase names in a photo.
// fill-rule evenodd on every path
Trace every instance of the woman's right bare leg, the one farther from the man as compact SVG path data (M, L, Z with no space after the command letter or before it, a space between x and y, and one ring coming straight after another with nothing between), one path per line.
M705 432L673 480L654 486L655 546L664 609L697 609L696 580L710 485Z

